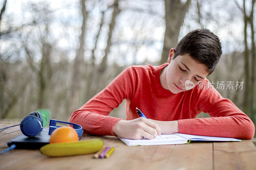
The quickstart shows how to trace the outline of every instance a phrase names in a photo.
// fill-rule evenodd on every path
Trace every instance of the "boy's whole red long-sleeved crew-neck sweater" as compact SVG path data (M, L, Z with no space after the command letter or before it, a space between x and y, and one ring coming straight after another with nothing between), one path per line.
M108 114L125 99L126 120L139 117L136 113L138 107L148 119L178 120L179 133L253 138L255 127L252 120L212 86L195 87L178 94L164 89L159 76L167 65L168 63L161 66L128 67L105 89L75 111L69 121L81 125L87 134L115 135L113 126L121 119ZM205 78L200 83L208 82ZM201 112L208 113L211 117L196 118Z

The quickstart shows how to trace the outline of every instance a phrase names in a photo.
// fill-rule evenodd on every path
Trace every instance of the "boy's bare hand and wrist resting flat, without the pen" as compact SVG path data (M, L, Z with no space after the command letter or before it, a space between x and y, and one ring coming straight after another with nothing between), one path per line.
M159 120L153 120L153 119L149 119L149 120L155 122L159 126L159 128L161 129L161 134L173 134L173 133L179 132L178 120L173 120L173 121L159 121Z

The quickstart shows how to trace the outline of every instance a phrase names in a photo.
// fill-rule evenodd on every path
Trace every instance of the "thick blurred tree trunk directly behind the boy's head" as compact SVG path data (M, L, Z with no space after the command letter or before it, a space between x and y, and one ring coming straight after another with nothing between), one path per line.
M180 27L184 22L184 17L189 9L191 0L181 4L180 0L165 0L165 34L164 47L160 64L166 63L171 48L175 48L178 43Z

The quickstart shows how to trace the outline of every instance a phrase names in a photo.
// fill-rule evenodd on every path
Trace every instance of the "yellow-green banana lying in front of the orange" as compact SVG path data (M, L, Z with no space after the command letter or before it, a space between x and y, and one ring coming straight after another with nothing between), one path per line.
M49 157L72 156L95 153L101 150L103 141L87 139L75 142L50 143L40 148L42 154Z

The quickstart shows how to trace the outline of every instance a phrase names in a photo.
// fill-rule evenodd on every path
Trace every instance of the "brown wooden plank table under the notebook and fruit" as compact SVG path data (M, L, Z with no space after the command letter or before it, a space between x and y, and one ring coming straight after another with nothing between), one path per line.
M0 124L0 129L10 125ZM21 134L20 127L0 132L0 150ZM109 158L93 154L50 158L39 150L14 149L0 155L0 169L256 169L256 148L251 140L241 142L191 142L177 145L127 146L116 136L100 138L115 147Z

